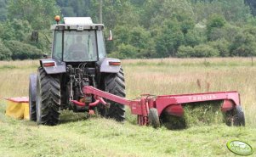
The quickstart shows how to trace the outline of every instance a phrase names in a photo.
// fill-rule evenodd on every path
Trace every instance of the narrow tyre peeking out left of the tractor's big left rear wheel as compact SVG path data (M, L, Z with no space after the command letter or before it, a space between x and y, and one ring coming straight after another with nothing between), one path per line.
M29 115L31 121L37 121L36 89L37 75L32 74L29 81Z

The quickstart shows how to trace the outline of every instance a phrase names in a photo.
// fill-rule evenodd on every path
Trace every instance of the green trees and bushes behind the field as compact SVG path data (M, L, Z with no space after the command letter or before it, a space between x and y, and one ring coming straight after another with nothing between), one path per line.
M0 59L37 59L50 53L40 34L61 17L99 22L99 0L0 0ZM256 54L253 0L103 0L109 56L120 59L230 57Z

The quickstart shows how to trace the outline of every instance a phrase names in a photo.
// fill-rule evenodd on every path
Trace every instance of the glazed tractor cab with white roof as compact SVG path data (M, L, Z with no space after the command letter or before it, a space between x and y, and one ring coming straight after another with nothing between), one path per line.
M104 59L103 29L104 25L94 24L90 17L64 18L64 24L51 26L54 31L52 58L64 62L95 62Z

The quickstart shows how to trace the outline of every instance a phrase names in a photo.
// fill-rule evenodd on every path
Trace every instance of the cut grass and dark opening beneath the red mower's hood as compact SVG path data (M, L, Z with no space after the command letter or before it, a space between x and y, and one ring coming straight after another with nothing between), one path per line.
M178 117L163 112L161 122L168 129L185 129L191 126L210 126L225 122L225 114L221 111L223 101L184 104L184 116Z

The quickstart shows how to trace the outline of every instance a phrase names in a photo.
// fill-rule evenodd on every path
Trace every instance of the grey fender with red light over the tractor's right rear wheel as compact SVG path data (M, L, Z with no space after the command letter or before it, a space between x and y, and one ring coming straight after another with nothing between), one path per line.
M120 65L110 65L109 62L120 62L120 59L105 58L100 60L100 72L117 73L121 69Z

